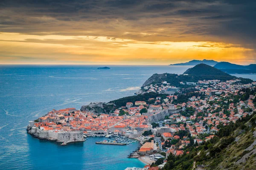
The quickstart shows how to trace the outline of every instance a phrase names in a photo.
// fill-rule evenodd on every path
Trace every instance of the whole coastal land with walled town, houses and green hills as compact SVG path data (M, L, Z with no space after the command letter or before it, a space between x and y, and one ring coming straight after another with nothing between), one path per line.
M97 144L125 145L124 139L137 139L142 146L129 157L164 170L252 169L255 96L253 80L199 64L181 75L154 74L136 96L90 103L80 110L52 110L30 121L27 131L63 144L84 141L85 136L120 140Z

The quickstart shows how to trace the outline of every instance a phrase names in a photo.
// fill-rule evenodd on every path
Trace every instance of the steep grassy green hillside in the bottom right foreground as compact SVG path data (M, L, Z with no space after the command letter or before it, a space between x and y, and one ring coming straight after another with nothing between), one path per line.
M192 170L204 166L207 170L255 170L256 113L236 123L218 125L217 136L201 146L188 146L182 156L168 156L164 170Z

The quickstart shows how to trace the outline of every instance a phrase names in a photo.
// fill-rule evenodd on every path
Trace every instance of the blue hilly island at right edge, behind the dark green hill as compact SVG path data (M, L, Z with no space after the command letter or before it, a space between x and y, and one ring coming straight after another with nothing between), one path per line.
M256 64L244 66L230 62L218 62L214 67L229 74L256 74Z

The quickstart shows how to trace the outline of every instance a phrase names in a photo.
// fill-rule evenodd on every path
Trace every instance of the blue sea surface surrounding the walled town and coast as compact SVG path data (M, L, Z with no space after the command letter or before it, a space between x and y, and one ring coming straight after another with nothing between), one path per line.
M104 138L60 146L26 133L29 120L52 109L109 102L134 95L155 73L182 74L192 66L168 65L0 65L0 170L124 170L143 167L128 159L138 143L97 145ZM237 74L235 76L238 76ZM240 77L256 79L255 74Z

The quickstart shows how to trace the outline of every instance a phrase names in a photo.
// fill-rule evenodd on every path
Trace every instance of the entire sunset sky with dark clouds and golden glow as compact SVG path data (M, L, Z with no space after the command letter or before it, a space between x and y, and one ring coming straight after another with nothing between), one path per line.
M256 63L255 0L1 0L0 64Z

